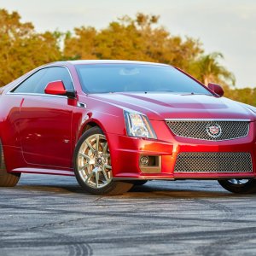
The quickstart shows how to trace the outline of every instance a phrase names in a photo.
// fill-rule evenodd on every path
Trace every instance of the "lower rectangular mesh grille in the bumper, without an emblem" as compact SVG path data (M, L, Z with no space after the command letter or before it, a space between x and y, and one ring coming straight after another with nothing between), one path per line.
M180 153L174 172L253 172L250 153Z

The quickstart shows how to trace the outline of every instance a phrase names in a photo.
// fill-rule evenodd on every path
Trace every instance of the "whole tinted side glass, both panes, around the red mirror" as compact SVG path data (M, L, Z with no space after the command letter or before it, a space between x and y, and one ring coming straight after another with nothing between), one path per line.
M32 76L21 83L13 92L44 94L46 85L56 80L61 80L66 90L73 90L70 74L65 67L45 67L37 73L32 74Z

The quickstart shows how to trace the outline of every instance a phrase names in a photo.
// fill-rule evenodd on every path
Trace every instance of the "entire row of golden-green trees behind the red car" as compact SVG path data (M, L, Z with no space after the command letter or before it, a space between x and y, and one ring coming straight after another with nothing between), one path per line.
M256 89L236 89L235 77L220 65L223 55L205 54L195 38L172 35L159 25L159 16L138 13L124 16L102 30L93 26L75 27L72 32L34 30L22 23L17 12L0 9L0 86L44 63L76 59L154 61L170 64L191 73L202 83L222 84L226 96L256 105Z

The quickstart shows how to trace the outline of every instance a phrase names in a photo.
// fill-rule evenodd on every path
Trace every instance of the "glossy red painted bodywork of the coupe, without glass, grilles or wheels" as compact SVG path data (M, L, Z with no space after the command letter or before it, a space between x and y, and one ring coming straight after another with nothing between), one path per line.
M73 175L73 152L79 137L89 126L98 125L108 139L116 179L255 177L256 114L252 110L217 95L128 92L87 95L81 89L74 65L94 63L119 61L63 61L44 66L68 69L76 91L73 99L64 96L65 88L60 81L48 84L47 94L12 92L31 73L3 88L0 138L8 172ZM210 86L218 93L214 88ZM61 91L63 96L56 96ZM157 139L128 137L124 109L146 114ZM202 141L175 136L165 119L247 119L250 130L247 137L235 140ZM248 152L253 157L253 172L174 173L177 154L181 152ZM143 173L139 166L141 154L159 155L160 172Z

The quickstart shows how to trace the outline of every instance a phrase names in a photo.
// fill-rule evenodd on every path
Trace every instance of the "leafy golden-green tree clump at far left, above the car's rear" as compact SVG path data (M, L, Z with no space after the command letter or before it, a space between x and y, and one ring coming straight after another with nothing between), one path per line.
M17 12L0 9L0 86L50 61L61 58L57 32L37 33L20 22Z

